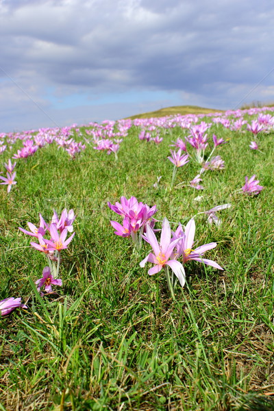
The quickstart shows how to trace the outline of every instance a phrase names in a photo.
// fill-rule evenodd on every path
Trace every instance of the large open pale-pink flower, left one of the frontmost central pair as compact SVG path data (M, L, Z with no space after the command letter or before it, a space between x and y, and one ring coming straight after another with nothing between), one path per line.
M149 255L140 262L140 266L144 267L147 262L155 264L155 266L149 269L149 275L159 273L159 271L166 265L170 266L173 273L179 279L179 283L184 287L186 282L184 267L175 259L175 253L173 253L173 249L180 238L171 240L171 227L169 221L166 218L163 220L160 244L149 225L147 225L146 240L151 245L153 253L149 253Z

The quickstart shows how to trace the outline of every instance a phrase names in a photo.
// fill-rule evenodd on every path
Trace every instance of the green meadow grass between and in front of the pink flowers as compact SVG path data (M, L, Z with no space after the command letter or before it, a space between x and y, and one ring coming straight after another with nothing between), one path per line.
M217 149L226 167L203 176L203 192L169 189L179 127L158 147L132 127L117 162L92 145L75 160L55 145L18 160L17 185L10 195L0 189L0 297L21 296L29 308L1 319L0 410L273 410L273 133L259 136L258 153L248 133L214 127L210 134L230 138ZM189 162L175 184L199 169ZM237 190L253 174L264 190L249 197ZM206 257L225 271L188 262L173 301L164 272L149 277L139 266L149 245L137 252L113 234L110 220L121 219L107 202L121 195L182 224L232 203L219 212L221 227L196 219L195 239L218 243ZM63 286L41 298L34 281L47 263L18 227L65 207L77 218L62 251Z

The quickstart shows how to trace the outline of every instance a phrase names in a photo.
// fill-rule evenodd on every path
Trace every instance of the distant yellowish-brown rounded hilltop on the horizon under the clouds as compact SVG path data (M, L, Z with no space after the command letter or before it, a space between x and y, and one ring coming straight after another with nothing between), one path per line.
M150 117L173 116L175 114L209 114L214 112L224 112L225 110L216 110L214 108L203 108L198 105L174 105L173 107L161 108L154 112L136 114L127 117L127 119L149 119Z

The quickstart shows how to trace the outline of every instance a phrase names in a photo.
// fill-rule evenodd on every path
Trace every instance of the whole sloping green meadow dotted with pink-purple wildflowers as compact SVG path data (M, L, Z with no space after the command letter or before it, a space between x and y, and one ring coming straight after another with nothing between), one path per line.
M273 410L274 109L0 134L0 410Z

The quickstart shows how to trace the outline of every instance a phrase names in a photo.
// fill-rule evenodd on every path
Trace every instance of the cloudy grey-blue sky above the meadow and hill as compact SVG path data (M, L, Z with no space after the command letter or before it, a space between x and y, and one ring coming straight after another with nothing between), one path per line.
M0 132L274 101L271 0L0 0Z

